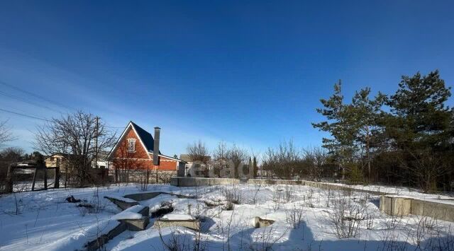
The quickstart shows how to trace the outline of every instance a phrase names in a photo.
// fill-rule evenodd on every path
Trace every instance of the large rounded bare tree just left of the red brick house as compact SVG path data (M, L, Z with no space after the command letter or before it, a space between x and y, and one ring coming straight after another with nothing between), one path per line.
M78 111L38 127L34 147L48 155L64 153L71 156L67 161L73 170L72 178L82 187L90 178L87 170L94 157L99 151L111 148L115 141L116 135L109 132L104 122L96 123L96 116Z

